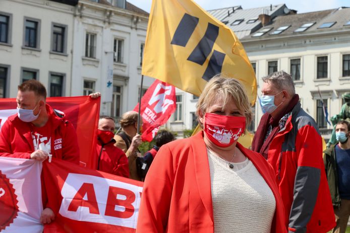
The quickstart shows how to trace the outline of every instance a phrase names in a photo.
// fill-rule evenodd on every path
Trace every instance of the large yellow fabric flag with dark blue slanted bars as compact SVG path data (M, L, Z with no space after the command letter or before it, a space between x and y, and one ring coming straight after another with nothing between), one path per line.
M192 0L153 0L142 74L200 96L218 73L240 80L255 103L255 73L236 35Z

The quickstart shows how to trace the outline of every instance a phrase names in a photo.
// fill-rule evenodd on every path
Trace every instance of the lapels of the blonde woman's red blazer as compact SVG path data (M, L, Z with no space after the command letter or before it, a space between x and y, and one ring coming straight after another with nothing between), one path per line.
M213 205L211 200L209 161L207 156L203 157L203 154L205 155L207 154L207 149L206 149L207 147L204 143L203 137L204 137L203 130L193 136L194 143L192 143L192 149L194 154L194 167L195 167L197 184L200 185L198 186L199 195L203 201L205 209L209 212L211 216L211 220L214 222ZM243 154L250 161L252 161L256 169L259 171L260 175L266 181L267 185L271 188L273 195L277 200L279 196L278 190L272 188L274 187L274 184L272 183L272 180L268 179L267 177L268 171L266 171L266 169L263 168L262 166L262 163L266 163L265 158L262 157L261 154L245 148L239 142L237 142L236 146L243 152Z

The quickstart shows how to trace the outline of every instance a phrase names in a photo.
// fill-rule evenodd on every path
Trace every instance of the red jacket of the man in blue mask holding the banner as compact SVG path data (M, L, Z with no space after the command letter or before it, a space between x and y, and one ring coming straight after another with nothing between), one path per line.
M64 114L58 116L48 104L46 111L49 119L43 127L52 127L52 157L79 165L79 146L74 126L65 119ZM30 159L34 151L30 124L21 121L17 114L7 119L0 131L0 156ZM55 141L60 139L62 146L55 147Z

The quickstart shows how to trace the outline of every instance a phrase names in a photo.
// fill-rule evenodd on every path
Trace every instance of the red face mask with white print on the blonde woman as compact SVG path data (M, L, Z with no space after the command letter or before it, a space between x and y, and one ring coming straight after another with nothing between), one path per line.
M206 113L204 132L215 145L227 147L232 145L246 129L246 118L222 116Z

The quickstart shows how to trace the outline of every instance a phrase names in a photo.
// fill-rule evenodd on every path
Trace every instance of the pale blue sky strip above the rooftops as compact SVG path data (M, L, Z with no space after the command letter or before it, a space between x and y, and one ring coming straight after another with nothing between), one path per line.
M127 0L129 3L150 12L152 0ZM213 10L225 7L242 6L243 9L266 7L284 3L289 9L297 10L298 13L314 12L350 7L350 0L194 0L205 10Z

